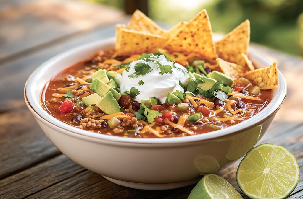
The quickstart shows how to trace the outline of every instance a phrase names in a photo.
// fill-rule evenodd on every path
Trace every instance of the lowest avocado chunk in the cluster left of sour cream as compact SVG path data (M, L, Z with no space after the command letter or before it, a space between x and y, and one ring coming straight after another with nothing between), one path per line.
M106 93L106 95L97 102L96 106L108 115L120 112L120 106L111 91Z

